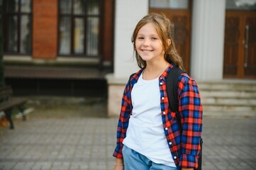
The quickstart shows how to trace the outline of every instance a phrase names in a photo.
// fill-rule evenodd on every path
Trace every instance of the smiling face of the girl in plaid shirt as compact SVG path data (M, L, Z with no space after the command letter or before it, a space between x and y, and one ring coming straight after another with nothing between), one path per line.
M135 47L140 57L146 62L160 60L160 57L165 55L160 36L152 23L147 23L140 28L135 40Z

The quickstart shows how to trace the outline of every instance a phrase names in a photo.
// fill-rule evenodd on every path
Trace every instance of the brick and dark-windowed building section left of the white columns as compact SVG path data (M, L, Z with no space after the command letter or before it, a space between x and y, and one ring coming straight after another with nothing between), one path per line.
M113 0L1 0L6 82L16 94L104 91L113 62ZM94 83L92 83L94 82Z

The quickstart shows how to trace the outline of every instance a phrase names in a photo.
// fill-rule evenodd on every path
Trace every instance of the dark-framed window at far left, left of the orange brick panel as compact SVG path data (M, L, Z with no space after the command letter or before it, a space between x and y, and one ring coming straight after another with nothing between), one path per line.
M4 53L31 54L31 0L4 0Z

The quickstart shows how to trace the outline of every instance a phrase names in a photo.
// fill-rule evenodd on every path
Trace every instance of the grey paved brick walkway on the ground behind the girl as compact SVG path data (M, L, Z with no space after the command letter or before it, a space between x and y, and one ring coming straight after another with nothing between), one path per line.
M0 169L113 169L118 118L104 107L39 106L15 130L0 128ZM256 118L204 117L203 169L256 169L255 130Z

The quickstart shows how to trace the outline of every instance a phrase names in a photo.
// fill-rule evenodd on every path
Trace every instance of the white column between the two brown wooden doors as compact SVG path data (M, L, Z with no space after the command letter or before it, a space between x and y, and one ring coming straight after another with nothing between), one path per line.
M223 79L226 1L194 0L191 31L191 77Z

